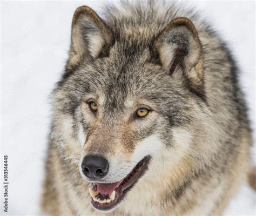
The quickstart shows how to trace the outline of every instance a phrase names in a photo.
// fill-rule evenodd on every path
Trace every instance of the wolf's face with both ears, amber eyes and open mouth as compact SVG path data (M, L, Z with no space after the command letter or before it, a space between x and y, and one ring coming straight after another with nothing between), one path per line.
M190 125L205 107L200 42L188 19L158 36L122 34L78 8L67 72L54 92L63 136L79 140L69 148L79 152L80 173L93 183L92 205L101 211L116 207L140 178L169 179L163 163L191 154Z

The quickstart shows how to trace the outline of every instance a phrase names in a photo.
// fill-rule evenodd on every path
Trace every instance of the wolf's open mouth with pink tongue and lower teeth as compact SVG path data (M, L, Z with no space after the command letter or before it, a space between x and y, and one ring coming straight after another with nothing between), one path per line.
M144 157L124 179L116 183L92 183L92 188L89 188L92 206L100 211L108 211L116 207L143 176L149 159L150 156Z

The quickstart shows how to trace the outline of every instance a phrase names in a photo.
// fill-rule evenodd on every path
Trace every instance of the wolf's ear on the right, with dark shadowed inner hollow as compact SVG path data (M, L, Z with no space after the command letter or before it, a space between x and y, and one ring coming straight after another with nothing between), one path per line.
M190 19L173 19L154 40L153 48L168 74L183 71L196 82L203 78L201 43Z

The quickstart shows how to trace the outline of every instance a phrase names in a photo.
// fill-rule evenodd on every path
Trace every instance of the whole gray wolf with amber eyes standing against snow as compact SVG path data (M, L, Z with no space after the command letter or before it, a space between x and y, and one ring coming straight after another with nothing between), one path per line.
M251 169L238 68L191 10L80 6L52 124L50 215L221 215Z

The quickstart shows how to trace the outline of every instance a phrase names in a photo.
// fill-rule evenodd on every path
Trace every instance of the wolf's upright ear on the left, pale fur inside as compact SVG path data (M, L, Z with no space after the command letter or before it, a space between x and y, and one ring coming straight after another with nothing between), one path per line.
M77 65L85 57L98 57L112 42L112 30L95 11L89 6L76 9L72 20L69 64Z

